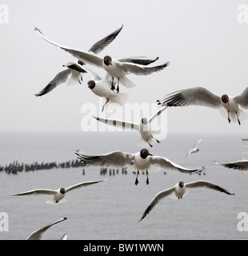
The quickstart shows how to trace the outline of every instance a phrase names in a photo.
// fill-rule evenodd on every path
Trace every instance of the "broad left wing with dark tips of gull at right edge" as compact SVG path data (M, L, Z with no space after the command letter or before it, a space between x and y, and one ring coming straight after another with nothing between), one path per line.
M168 94L157 101L158 105L166 103L167 106L210 106L221 107L221 100L218 95L203 87L193 87L186 90L178 90Z

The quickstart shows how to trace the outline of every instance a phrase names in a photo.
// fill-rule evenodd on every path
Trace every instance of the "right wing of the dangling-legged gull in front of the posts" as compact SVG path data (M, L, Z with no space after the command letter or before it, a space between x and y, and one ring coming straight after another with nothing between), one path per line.
M204 166L197 168L197 169L188 169L188 168L179 166L178 164L170 161L167 158L156 157L156 156L153 156L150 158L150 163L154 164L154 165L161 166L162 168L165 168L165 169L178 170L184 174L192 174L192 173L198 174L198 173L202 172L202 170L205 169Z

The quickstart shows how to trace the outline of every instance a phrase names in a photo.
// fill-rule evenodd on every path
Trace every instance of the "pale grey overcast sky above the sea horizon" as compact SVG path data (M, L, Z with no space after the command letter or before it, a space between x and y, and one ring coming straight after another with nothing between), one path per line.
M238 95L248 86L248 23L238 23L238 6L248 1L4 1L9 23L0 24L0 131L81 131L83 104L98 97L82 86L42 90L62 65L75 58L50 45L34 31L37 26L54 42L88 50L94 42L124 25L100 53L114 58L158 56L170 62L159 73L129 78L134 88L128 103L149 104L192 86L215 94ZM100 75L103 70L88 66ZM100 114L100 113L99 113ZM229 124L218 110L202 106L170 108L168 132L246 134L248 121Z

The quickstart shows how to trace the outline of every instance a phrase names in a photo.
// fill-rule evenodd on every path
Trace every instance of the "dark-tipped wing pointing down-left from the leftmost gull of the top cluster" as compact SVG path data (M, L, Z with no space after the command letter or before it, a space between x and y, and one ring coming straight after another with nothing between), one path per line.
M49 93L51 90L54 90L54 88L56 88L63 82L66 82L70 74L71 74L70 69L62 70L61 72L55 75L55 77L50 81L50 83L43 90L41 90L38 94L35 94L35 96L37 97L42 96L44 94Z

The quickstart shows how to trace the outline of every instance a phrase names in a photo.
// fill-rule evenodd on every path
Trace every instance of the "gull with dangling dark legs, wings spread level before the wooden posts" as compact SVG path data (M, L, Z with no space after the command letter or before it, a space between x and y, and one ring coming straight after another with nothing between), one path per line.
M113 166L122 167L130 162L134 162L133 166L130 166L127 170L137 171L135 185L138 185L138 174L139 171L146 171L146 185L149 184L148 171L161 170L162 168L170 170L178 170L185 174L200 173L205 167L198 169L186 169L182 166L178 166L176 163L171 162L167 158L159 156L153 156L149 150L142 149L135 154L124 153L122 151L113 151L109 154L102 155L89 155L84 154L80 150L76 150L78 159L82 162L92 166Z

